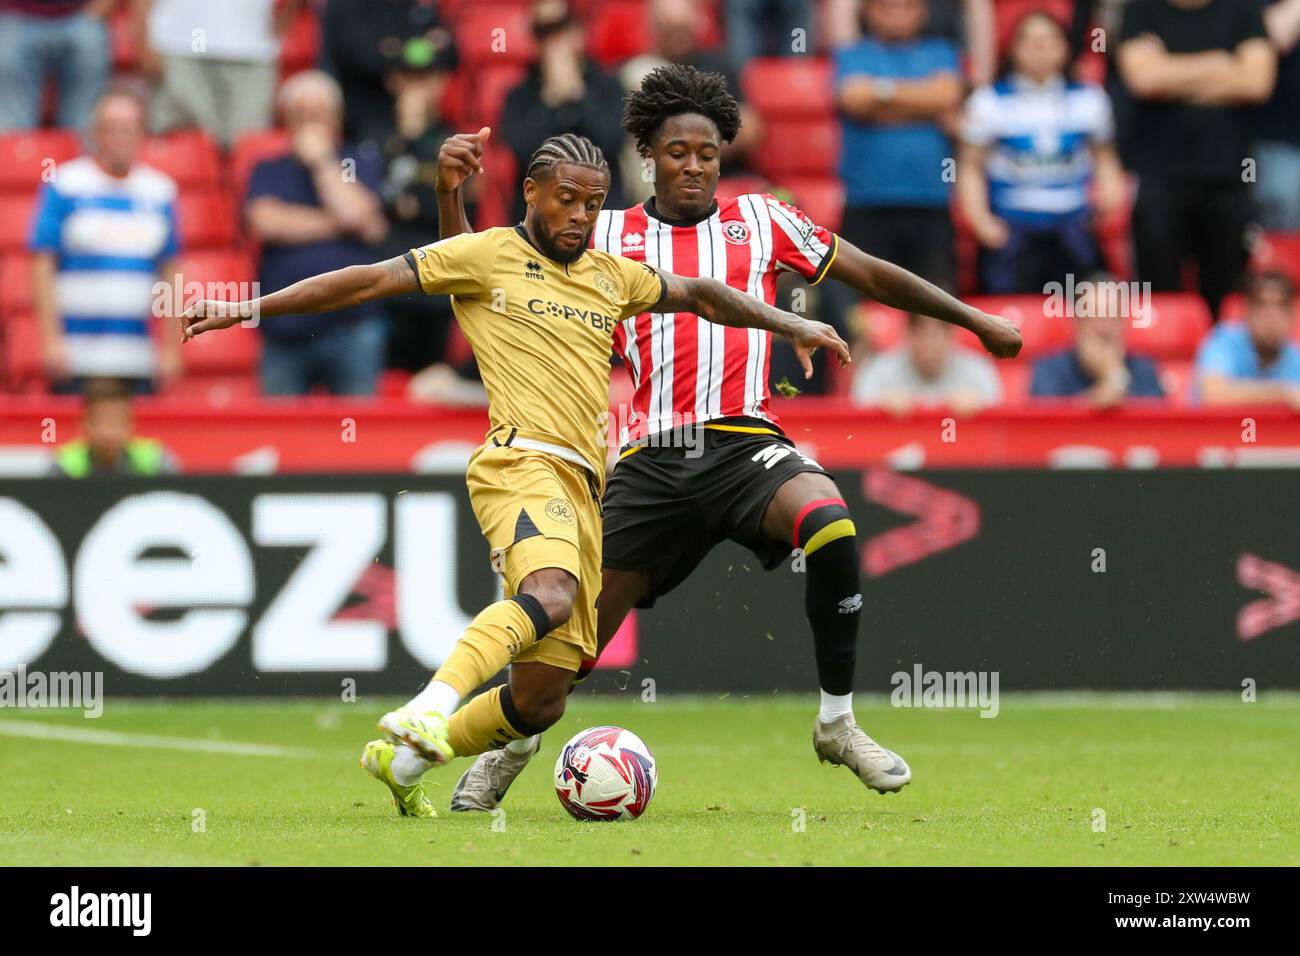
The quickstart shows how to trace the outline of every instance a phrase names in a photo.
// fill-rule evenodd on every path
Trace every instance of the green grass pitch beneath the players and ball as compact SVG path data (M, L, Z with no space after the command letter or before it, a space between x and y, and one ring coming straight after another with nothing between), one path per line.
M1004 695L993 719L861 698L913 767L889 796L818 763L811 697L575 695L495 821L446 810L463 760L426 778L437 819L394 814L358 766L394 702L0 710L0 864L1300 864L1300 695ZM578 823L551 788L560 744L602 723L659 762L638 821Z

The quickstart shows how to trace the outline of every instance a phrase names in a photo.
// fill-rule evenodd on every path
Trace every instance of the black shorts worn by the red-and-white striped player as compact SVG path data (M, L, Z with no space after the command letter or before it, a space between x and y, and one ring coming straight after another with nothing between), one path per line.
M775 425L757 419L715 423L733 432L697 428L694 447L646 445L619 459L604 489L603 566L645 571L650 593L637 607L681 584L720 541L736 541L771 571L790 545L763 535L763 515L776 489L796 475L826 475ZM667 442L667 436L656 436Z

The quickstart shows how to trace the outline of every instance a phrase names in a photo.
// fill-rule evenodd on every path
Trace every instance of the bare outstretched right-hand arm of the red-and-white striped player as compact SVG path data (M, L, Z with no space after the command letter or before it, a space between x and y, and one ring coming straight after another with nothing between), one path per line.
M1006 319L971 308L920 276L868 256L842 237L828 274L885 306L970 329L994 358L1013 359L1020 351L1020 333Z

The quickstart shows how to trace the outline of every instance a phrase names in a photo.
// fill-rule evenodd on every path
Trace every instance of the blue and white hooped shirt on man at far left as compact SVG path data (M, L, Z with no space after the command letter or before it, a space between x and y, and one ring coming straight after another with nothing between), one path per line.
M83 156L47 183L34 252L57 256L57 302L74 376L151 377L159 268L178 251L176 182L146 165L109 176Z

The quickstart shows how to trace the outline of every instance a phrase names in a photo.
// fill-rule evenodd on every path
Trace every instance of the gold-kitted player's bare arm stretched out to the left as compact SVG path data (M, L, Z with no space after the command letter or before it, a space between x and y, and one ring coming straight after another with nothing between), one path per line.
M350 308L387 295L420 291L420 280L404 256L372 265L348 265L304 278L270 295L246 302L203 299L181 316L185 341L212 329L229 329L247 319L307 315Z

